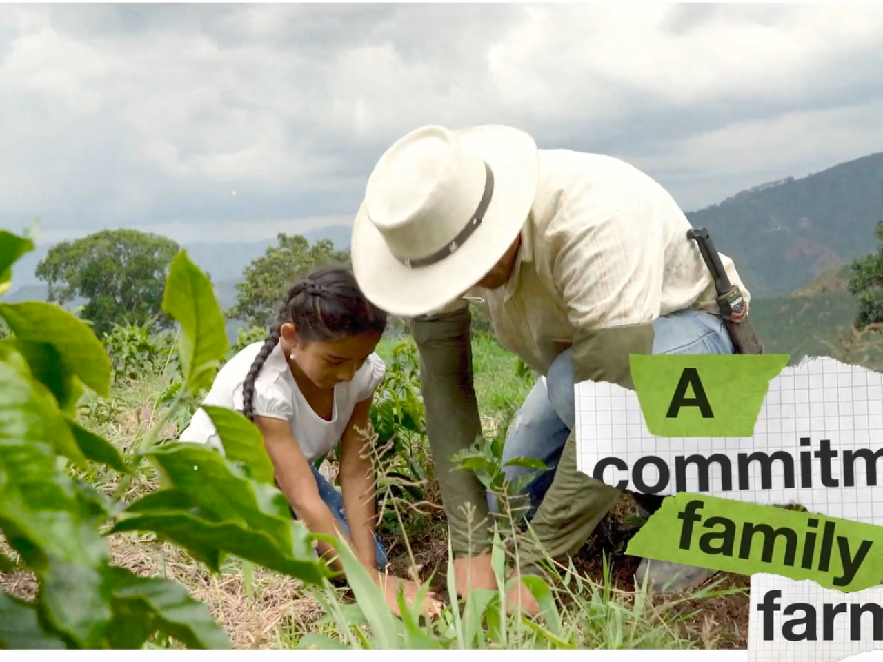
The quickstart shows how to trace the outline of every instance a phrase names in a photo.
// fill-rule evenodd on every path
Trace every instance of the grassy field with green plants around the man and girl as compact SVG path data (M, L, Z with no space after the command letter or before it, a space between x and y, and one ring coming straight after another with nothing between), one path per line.
M0 275L19 250L9 237ZM474 591L428 623L389 613L346 549L349 585L328 582L245 418L212 414L226 459L175 441L217 366L262 332L229 347L211 285L183 254L163 309L176 331L117 327L99 342L55 305L0 303L11 329L0 342L0 648L744 647L747 577L716 575L687 596L633 592L637 560L623 551L639 521L627 498L552 586L532 589L536 618L507 615L502 546L501 590ZM416 350L399 336L379 351L381 536L397 573L449 600ZM460 460L497 489L506 425L532 376L487 336L473 338L473 357L486 443ZM321 471L333 478L335 466L328 457Z

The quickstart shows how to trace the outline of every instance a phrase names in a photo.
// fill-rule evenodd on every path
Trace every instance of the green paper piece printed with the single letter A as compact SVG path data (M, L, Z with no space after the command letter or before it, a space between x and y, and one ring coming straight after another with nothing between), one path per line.
M769 382L788 354L630 356L647 429L657 437L753 437Z

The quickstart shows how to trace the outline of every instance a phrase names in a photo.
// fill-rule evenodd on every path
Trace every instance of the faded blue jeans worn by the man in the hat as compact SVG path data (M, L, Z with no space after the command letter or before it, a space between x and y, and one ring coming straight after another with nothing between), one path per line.
M653 322L653 354L735 354L724 321L717 315L700 311L673 312ZM539 507L561 458L564 442L576 421L574 405L573 365L570 350L560 354L549 367L546 379L537 380L518 411L502 448L503 473L512 480L529 473L536 477L525 488L531 506L528 516ZM533 457L547 466L546 470L528 467L506 467L517 457ZM487 503L498 512L494 494L488 493Z

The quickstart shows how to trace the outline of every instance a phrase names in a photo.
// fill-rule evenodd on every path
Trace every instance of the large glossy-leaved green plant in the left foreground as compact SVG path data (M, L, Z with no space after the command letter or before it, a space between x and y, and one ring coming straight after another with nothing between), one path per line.
M0 275L33 248L0 232ZM227 350L211 283L185 252L170 266L162 310L181 330L177 402L211 383ZM0 317L15 335L0 341L0 532L18 557L4 557L4 566L32 571L39 584L32 601L0 592L0 648L141 648L157 634L191 648L229 647L208 608L183 586L111 565L105 538L112 533L153 532L214 572L235 555L306 583L331 575L268 476L260 433L247 419L211 414L225 456L159 445L172 406L124 459L75 419L85 387L109 396L109 357L92 329L41 302L0 304ZM117 493L106 497L72 478L73 468L91 463L121 474ZM163 487L127 504L121 498L145 463Z

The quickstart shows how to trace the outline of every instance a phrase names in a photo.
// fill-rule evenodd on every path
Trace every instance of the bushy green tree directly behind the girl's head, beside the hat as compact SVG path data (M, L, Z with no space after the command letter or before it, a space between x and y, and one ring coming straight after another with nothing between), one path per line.
M328 239L311 246L301 235L280 232L278 240L245 267L243 281L236 284L237 304L227 312L230 320L266 328L275 322L279 305L298 278L328 264L350 264L350 252L337 251Z

